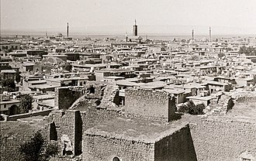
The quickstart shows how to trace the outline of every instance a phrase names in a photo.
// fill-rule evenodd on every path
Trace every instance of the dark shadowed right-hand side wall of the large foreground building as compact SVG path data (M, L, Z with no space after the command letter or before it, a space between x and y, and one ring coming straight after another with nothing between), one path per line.
M154 145L154 160L196 161L189 125L185 125L172 135L156 142Z

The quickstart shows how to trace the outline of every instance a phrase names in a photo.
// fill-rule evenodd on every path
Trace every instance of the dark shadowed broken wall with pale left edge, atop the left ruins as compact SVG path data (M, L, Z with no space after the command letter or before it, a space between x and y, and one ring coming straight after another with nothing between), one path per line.
M54 107L67 110L83 94L85 94L83 87L57 87L55 88Z

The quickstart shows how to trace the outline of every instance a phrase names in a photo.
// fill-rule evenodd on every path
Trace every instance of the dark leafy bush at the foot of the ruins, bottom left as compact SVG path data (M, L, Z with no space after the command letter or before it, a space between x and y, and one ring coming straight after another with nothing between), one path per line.
M47 143L40 132L36 132L29 142L19 146L19 152L24 161L45 161L50 156L56 156L58 147L56 144Z

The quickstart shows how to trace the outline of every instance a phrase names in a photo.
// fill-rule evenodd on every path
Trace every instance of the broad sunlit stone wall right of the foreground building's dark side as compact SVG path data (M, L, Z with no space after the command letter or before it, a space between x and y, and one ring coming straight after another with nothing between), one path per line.
M197 119L190 124L197 159L233 161L251 151L256 156L256 124L227 119Z

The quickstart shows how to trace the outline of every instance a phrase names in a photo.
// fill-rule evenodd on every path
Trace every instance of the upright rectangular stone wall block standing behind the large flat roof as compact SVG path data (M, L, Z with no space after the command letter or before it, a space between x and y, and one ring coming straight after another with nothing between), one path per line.
M126 89L127 114L164 118L166 122L171 120L175 114L175 103L171 96L164 91L153 91L146 89Z

